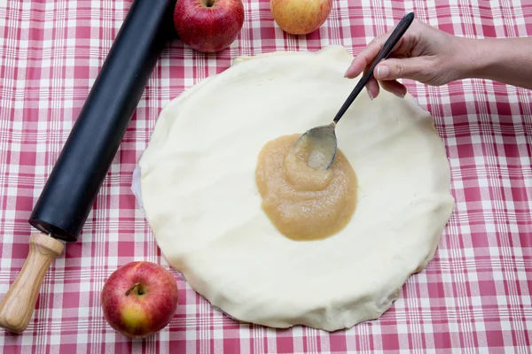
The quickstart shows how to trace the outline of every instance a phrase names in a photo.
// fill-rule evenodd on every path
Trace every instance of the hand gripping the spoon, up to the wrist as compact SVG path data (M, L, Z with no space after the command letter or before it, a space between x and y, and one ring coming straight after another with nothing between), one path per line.
M346 77L353 79L367 72L391 32L370 42L353 59ZM465 64L465 41L414 19L388 58L375 67L372 79L366 84L368 94L371 98L378 96L380 84L383 89L403 97L406 88L397 79L412 79L433 86L460 79Z

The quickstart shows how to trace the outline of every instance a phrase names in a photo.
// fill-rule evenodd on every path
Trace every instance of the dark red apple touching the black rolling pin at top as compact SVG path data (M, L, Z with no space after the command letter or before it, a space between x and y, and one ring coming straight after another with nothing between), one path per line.
M243 25L241 0L178 0L174 9L174 27L181 41L204 53L229 47Z

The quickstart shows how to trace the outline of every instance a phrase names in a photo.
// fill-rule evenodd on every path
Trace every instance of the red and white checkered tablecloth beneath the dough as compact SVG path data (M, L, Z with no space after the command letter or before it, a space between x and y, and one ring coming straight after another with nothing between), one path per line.
M130 4L0 1L0 296L24 263L29 213ZM118 266L169 268L130 185L163 104L184 89L239 55L328 44L356 53L407 11L455 35L532 35L530 0L334 0L325 25L302 37L275 25L268 0L244 6L230 49L206 56L176 41L163 52L79 241L52 264L27 330L0 330L0 352L530 353L532 93L481 80L408 82L444 139L457 203L434 260L380 319L335 333L239 324L180 280L176 315L159 334L131 341L106 324L100 289Z

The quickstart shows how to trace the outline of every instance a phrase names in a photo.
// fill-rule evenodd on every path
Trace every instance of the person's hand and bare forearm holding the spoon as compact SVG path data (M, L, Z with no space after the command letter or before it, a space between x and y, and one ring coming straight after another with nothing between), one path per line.
M375 38L358 53L346 77L353 79L368 69L388 35ZM532 37L463 38L414 19L397 48L375 67L366 89L372 98L379 88L403 97L407 89L398 79L440 86L469 78L532 89Z

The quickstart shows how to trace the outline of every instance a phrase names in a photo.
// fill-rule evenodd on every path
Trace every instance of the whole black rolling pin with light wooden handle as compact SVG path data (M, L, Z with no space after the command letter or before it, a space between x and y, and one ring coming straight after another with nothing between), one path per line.
M29 218L38 232L0 302L0 327L26 329L45 273L76 242L161 51L176 0L134 0ZM64 243L65 242L65 243Z

